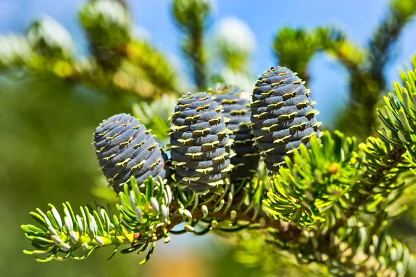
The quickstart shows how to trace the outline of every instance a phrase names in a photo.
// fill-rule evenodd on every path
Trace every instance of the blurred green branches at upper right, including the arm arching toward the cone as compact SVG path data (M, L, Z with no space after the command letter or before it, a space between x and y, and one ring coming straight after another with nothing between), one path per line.
M338 113L335 129L363 141L374 135L377 127L376 107L386 92L385 70L394 58L394 46L402 30L416 13L415 0L392 0L388 12L361 48L335 28L282 28L275 35L273 48L281 65L288 65L308 80L308 64L318 51L325 51L345 66L349 73L348 105Z

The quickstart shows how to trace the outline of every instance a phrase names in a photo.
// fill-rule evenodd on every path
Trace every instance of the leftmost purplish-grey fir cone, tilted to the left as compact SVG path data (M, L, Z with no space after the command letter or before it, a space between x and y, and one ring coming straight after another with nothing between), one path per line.
M107 181L119 193L134 176L137 184L148 177L166 177L166 155L146 127L128 114L116 114L96 128L94 147Z

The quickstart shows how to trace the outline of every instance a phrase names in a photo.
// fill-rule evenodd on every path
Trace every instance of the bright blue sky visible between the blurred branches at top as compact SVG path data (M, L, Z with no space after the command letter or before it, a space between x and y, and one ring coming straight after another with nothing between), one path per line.
M152 42L171 57L181 58L180 32L173 24L169 0L130 0L135 24L151 34ZM275 66L272 37L283 26L336 25L345 30L349 39L365 46L374 28L383 19L388 0L214 0L213 24L228 16L239 17L254 31L257 48L254 72L261 74ZM0 0L0 33L23 32L28 23L46 13L60 21L76 39L78 53L85 55L87 42L76 18L84 0ZM395 61L388 68L389 80L397 80L402 62L416 53L416 22L409 24L397 44ZM318 102L321 120L330 123L347 98L345 70L325 55L314 58L309 87Z

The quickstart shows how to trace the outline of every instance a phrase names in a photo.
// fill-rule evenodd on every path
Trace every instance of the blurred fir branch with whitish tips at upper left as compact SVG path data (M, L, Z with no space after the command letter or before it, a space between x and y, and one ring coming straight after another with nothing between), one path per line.
M68 31L45 17L34 21L26 36L0 36L1 71L46 74L138 98L177 94L177 73L165 55L148 42L132 39L124 2L89 1L81 8L79 19L87 30L92 58L76 60Z

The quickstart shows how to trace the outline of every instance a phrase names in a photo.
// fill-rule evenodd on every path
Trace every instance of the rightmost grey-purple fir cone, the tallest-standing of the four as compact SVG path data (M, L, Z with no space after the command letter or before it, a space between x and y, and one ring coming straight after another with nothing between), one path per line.
M309 89L286 67L263 73L256 83L252 101L252 129L256 145L270 171L277 171L301 143L319 136L318 111L313 109Z

